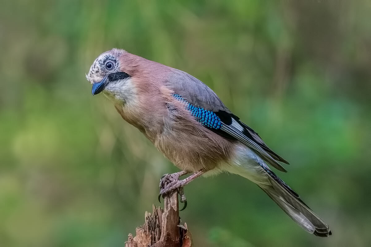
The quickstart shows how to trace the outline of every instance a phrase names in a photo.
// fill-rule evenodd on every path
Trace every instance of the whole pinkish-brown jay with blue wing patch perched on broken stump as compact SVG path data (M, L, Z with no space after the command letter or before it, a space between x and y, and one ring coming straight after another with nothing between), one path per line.
M286 172L280 163L288 161L200 80L120 49L95 59L86 79L93 84L93 95L102 92L125 121L181 169L162 177L160 194L182 192L198 176L226 171L256 183L309 233L331 235L328 224L268 167Z

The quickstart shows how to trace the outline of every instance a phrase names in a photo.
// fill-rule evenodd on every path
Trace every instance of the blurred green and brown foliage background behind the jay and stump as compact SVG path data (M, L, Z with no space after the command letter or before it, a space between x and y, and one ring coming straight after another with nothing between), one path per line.
M290 161L332 229L257 186L185 187L195 246L371 245L370 1L1 1L0 245L123 246L177 171L85 79L112 47L184 70Z

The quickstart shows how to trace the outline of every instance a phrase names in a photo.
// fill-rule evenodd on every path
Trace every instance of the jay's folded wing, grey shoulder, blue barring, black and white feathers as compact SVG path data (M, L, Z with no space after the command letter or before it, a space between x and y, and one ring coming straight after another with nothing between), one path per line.
M240 141L255 150L273 167L286 172L278 161L286 164L288 162L272 151L252 128L231 113L206 84L181 70L174 70L165 83L174 90L174 97L184 101L187 109L203 126L222 136Z

